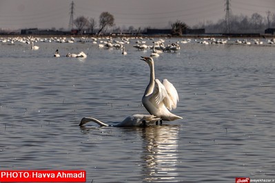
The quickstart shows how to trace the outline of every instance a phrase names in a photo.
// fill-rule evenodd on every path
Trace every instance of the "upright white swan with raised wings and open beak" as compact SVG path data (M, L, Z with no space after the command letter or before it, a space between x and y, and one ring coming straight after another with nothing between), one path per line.
M154 60L152 57L141 56L141 58L141 60L145 61L150 67L150 83L147 85L142 98L145 109L147 109L150 114L161 118L161 120L171 121L182 119L180 116L176 116L169 111L176 109L176 104L179 101L179 95L174 85L167 79L163 79L163 83L155 79Z

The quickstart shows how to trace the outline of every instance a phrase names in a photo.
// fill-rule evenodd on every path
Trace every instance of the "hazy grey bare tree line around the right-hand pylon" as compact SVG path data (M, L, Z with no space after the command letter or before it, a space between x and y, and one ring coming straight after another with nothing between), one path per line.
M198 23L193 28L205 28L206 33L227 32L225 19L219 19L216 23ZM230 33L264 33L267 28L275 28L275 14L270 11L266 12L266 17L257 12L250 17L243 14L230 16Z

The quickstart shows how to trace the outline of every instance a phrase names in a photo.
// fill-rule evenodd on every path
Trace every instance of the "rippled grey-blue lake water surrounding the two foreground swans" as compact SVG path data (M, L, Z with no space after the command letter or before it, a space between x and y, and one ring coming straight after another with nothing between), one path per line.
M87 182L275 178L275 46L180 43L154 60L156 78L179 93L173 113L183 120L80 128L84 116L114 125L147 114L150 70L140 56L151 51L130 41L125 56L91 40L35 43L39 50L1 43L0 169L83 169ZM65 57L80 51L88 58Z

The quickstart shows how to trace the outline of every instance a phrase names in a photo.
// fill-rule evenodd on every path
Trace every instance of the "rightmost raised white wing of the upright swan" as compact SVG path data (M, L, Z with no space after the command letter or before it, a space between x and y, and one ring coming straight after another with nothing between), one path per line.
M167 107L167 109L176 109L176 104L179 101L179 94L176 92L176 88L167 79L163 79L163 86L165 87L170 100L170 106Z

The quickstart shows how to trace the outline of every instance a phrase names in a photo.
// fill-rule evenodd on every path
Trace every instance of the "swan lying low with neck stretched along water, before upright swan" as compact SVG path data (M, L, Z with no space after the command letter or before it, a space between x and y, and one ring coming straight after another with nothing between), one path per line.
M122 122L119 122L118 124L114 125L114 127L136 127L136 126L145 126L145 125L152 125L157 120L160 120L160 118L156 118L154 115L149 114L134 114L132 116L128 116L123 120ZM79 126L84 125L87 122L96 122L101 127L108 127L112 125L108 125L104 122L101 122L100 120L92 117L84 117L82 118L81 122L79 123Z

